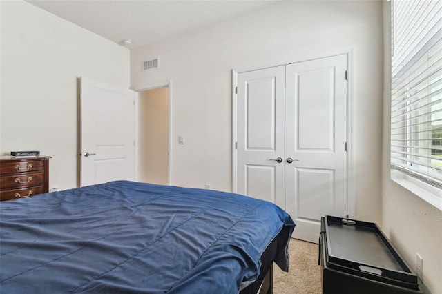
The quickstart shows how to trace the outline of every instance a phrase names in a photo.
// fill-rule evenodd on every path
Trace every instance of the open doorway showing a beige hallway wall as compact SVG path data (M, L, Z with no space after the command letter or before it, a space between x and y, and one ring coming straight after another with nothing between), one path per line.
M137 181L171 184L170 85L137 91Z

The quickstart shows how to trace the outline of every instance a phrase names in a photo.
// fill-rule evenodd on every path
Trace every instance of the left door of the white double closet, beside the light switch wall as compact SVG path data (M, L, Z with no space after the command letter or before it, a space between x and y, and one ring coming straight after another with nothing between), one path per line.
M284 66L238 75L237 192L281 208L285 207L284 96Z

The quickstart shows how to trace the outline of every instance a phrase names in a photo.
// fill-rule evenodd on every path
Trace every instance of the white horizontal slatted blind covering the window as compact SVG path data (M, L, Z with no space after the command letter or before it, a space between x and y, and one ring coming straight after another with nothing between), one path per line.
M442 1L392 0L391 166L442 188Z

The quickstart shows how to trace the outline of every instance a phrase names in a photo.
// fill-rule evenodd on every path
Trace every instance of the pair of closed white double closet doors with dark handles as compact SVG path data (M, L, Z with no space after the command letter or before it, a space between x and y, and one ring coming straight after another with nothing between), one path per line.
M238 75L237 192L284 208L296 239L347 214L346 70L339 55Z

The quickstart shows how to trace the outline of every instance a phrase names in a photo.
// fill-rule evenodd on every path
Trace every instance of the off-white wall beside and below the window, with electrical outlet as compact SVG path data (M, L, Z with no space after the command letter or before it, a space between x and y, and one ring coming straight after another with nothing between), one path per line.
M384 3L383 231L414 270L416 253L421 255L425 286L432 293L442 293L442 211L390 179L390 4Z

